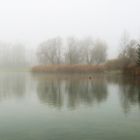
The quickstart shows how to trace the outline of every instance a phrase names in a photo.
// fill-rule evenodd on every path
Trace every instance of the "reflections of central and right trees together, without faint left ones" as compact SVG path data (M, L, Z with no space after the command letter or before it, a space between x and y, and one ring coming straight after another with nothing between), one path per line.
M123 77L97 77L90 79L57 79L48 78L38 81L37 94L42 103L48 103L55 107L67 105L76 108L81 104L91 105L101 103L108 97L107 87L116 86L116 94L119 90L120 103L124 112L128 112L132 105L140 104L140 83Z

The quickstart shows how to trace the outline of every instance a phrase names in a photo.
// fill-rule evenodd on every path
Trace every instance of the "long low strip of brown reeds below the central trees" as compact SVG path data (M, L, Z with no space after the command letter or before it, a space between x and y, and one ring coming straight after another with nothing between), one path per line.
M103 65L39 65L32 68L32 72L44 73L103 73Z

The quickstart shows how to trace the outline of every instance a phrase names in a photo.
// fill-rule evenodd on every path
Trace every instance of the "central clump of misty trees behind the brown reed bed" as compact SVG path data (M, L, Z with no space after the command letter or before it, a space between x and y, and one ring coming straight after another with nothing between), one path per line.
M107 58L107 44L101 39L56 37L42 42L37 56L41 64L101 64Z

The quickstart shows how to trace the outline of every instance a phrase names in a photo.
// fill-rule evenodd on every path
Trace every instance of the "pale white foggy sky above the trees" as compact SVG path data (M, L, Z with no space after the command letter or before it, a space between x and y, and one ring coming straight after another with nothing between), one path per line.
M140 39L140 0L0 0L0 40L36 47L51 37L102 38L114 57L124 30Z

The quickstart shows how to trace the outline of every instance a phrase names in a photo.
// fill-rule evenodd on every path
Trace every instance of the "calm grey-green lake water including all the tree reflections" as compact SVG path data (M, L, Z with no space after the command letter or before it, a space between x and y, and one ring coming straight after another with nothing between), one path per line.
M0 73L0 140L140 140L140 84Z

